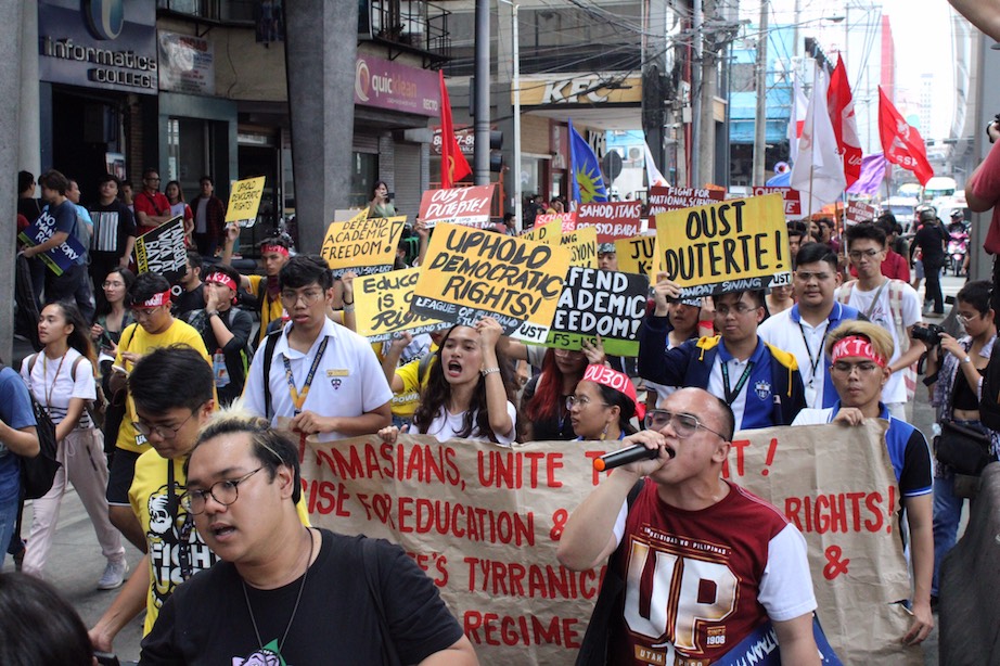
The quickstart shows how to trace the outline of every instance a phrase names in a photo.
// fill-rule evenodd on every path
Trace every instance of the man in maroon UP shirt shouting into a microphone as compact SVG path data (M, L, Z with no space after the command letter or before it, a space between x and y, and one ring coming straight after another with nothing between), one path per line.
M820 664L805 539L775 507L721 477L732 410L681 388L645 425L623 445L658 457L603 478L559 541L574 571L611 556L598 609L624 609L604 623L595 611L577 663L708 664L770 620L782 663Z

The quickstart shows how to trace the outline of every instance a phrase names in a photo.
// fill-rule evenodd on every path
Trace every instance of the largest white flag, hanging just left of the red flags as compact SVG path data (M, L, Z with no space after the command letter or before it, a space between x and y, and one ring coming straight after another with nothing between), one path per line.
M812 99L806 111L791 182L792 188L799 192L806 215L835 202L847 187L837 140L826 111L826 75L818 67L813 81Z

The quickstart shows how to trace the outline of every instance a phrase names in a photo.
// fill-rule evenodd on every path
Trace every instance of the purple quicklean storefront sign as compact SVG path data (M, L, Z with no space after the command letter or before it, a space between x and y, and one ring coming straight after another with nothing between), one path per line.
M355 64L355 104L421 116L440 115L437 74L373 55L358 55Z

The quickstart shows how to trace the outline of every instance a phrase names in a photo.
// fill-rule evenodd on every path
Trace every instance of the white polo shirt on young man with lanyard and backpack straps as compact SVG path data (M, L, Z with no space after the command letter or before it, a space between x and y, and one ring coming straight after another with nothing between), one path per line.
M382 363L368 340L328 319L309 351L303 354L289 346L289 332L293 325L292 322L287 323L281 332L271 359L268 377L271 387L271 425L278 424L278 417L291 419L295 415L295 404L292 401L282 359L289 359L295 388L302 392L324 337L329 337L330 342L312 377L303 411L309 410L321 417L360 417L393 399L393 390L385 379ZM254 356L243 390L247 409L261 417L265 415L264 350L265 345L261 344ZM319 433L317 438L320 441L335 441L346 436L341 433Z

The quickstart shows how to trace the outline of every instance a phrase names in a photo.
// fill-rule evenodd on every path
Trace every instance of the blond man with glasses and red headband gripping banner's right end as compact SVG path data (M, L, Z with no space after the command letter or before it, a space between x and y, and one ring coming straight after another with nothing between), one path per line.
M888 359L893 356L893 340L885 329L869 321L844 322L830 334L826 353L839 400L826 409L804 409L792 425L836 423L846 427L858 425L864 419L888 420L885 446L902 496L913 565L913 624L902 640L907 644L918 644L934 628L931 614L934 574L931 450L921 432L892 415L882 401L884 386L892 375Z

